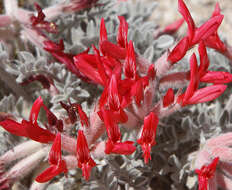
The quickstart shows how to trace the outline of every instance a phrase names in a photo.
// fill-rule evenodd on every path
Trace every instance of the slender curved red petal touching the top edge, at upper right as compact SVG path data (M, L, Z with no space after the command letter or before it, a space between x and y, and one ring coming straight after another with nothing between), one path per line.
M178 10L188 24L188 37L189 41L191 42L194 37L195 23L183 0L178 1Z

